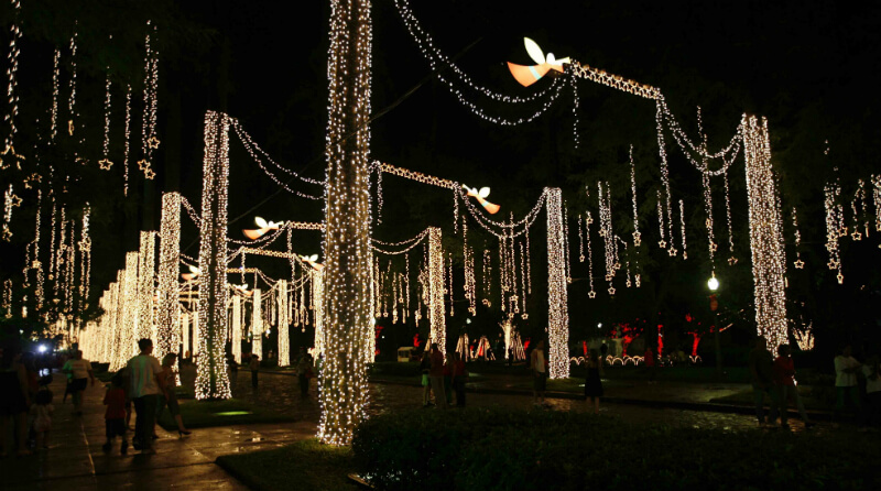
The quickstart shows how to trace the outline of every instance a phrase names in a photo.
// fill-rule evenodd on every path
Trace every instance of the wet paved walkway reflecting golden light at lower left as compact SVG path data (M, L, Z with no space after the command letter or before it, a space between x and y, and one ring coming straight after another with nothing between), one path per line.
M156 426L156 455L142 456L130 447L129 455L122 456L119 438L107 455L101 450L106 441L104 385L85 392L84 414L75 416L70 397L66 404L61 401L63 377L56 373L55 380L51 388L55 416L50 448L28 457L0 459L3 491L247 490L214 463L217 457L275 448L315 434L314 421L193 429L183 439Z

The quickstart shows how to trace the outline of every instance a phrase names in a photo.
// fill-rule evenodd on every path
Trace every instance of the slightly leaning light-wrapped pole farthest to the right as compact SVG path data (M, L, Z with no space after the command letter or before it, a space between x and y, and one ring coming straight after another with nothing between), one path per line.
M768 120L743 116L743 156L747 161L750 249L755 284L755 324L769 346L787 342L786 259L783 249L783 217L771 167Z

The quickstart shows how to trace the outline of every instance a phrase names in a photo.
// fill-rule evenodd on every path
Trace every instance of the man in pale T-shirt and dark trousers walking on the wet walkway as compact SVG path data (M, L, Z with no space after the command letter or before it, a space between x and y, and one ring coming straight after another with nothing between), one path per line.
M134 402L134 448L141 454L155 454L153 449L153 426L159 408L159 397L165 390L162 367L153 357L153 341L148 338L138 341L141 352L129 360L129 390Z

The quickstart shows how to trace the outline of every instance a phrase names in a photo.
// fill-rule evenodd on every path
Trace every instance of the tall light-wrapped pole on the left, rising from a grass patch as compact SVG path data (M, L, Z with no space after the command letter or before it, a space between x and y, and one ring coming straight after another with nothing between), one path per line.
M205 114L202 223L199 227L199 337L196 399L229 399L227 343L227 193L229 189L229 117ZM195 329L194 329L195 331Z

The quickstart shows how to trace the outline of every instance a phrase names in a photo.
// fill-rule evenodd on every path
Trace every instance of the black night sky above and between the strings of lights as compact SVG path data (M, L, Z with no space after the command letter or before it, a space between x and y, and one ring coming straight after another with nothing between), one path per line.
M508 61L531 64L522 42L523 36L530 36L557 57L570 56L660 87L692 138L697 133L695 114L700 106L711 150L730 140L741 113L766 116L784 208L800 206L800 212L804 209L804 240L819 261L817 268L825 262L823 184L835 176L835 167L846 187L881 167L877 162L881 127L874 117L881 109L874 94L881 81L881 10L875 6L842 6L835 1L796 6L766 1L412 0L412 8L435 45L455 57L472 79L494 91L523 97L551 84L546 77L523 88L508 73ZM160 133L164 146L160 154L164 162L157 164L155 188L146 189L143 199L138 196L140 203L134 201L137 210L120 216L105 208L107 217L96 220L96 233L105 237L96 237L95 241L104 240L98 247L106 253L95 270L96 287L105 287L116 269L121 268L123 249L132 247L133 232L142 223L152 221L159 227L156 205L161 190L181 189L198 208L202 119L207 109L224 110L238 118L280 164L313 178L324 176L327 2L200 0L182 3L180 9L188 22L209 30L210 35L204 45L187 50L185 42L173 40L177 33L164 34L168 36L164 42L173 46L161 62ZM490 200L502 205L501 215L505 217L510 211L522 216L544 186L562 187L574 212L588 206L596 209L596 201L587 201L581 189L585 184L596 186L601 178L612 185L613 206L623 214L629 203L627 149L632 143L638 162L641 227L649 234L649 242L657 240L653 197L659 186L660 159L651 101L578 81L580 144L576 149L574 98L568 85L555 105L534 122L500 127L475 116L446 84L433 76L392 0L374 2L373 21L372 159L471 186L491 186ZM22 78L33 80L29 89L43 90L41 97L45 98L45 59L42 68L33 68L39 64L26 62L28 44L24 47ZM51 53L51 48L43 43L30 53ZM86 81L81 84L87 86L88 75L83 78ZM90 80L95 85L91 90L100 96L102 86L96 80L100 78ZM467 94L488 113L530 112ZM830 142L831 159L823 155L825 140ZM254 215L272 220L322 219L320 201L279 192L236 139L231 141L230 237L241 238L238 230L251 227ZM704 220L699 174L670 137L667 152L674 199L685 199L686 207L694 210L689 222L695 223L689 241L696 259L675 270L675 275L704 277L706 263L700 263L699 255L705 249L699 228ZM733 220L736 234L744 240L742 164L738 168L731 176ZM319 192L308 184L292 186L304 193ZM717 204L720 197L716 198ZM383 200L382 223L373 229L377 238L403 240L426 226L450 231L453 199L448 192L387 175ZM619 227L624 229L623 223ZM124 237L121 241L113 237L120 234ZM195 228L185 228L182 246L191 255L197 254L195 238ZM295 242L297 252L320 252L320 237L315 232L298 232ZM741 293L749 296L747 246L739 247L740 272L732 273L739 280L732 282L739 282ZM15 269L3 266L4 272ZM657 271L668 272L663 268ZM817 277L833 280L822 273L818 269ZM574 271L581 280L584 274ZM857 283L878 283L872 275L860 277L862 272L857 271L852 274ZM817 280L812 276L804 283L811 290ZM579 288L576 282L570 295L584 293ZM641 302L640 297L631 301ZM601 307L598 315L621 315L632 302L624 298L618 304L611 310ZM576 315L574 323L580 321L588 320Z

